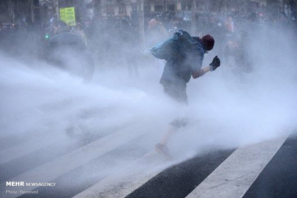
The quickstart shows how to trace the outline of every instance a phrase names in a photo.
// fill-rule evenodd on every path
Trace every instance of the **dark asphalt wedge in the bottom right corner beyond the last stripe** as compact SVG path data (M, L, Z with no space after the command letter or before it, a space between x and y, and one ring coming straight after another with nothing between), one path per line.
M243 198L297 197L297 134L292 134Z

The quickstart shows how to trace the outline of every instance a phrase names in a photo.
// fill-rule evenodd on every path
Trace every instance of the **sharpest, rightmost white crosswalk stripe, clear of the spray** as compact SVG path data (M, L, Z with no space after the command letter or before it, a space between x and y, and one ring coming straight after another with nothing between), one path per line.
M282 136L239 147L187 198L242 197L286 139Z

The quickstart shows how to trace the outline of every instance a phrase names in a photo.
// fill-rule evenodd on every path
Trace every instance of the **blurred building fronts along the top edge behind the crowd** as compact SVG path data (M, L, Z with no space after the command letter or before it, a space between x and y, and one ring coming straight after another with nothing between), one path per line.
M78 18L129 16L144 18L162 13L191 18L192 12L228 15L266 11L296 18L296 0L0 0L0 23L34 23L42 18L59 18L59 8L75 7ZM194 8L195 7L195 8Z

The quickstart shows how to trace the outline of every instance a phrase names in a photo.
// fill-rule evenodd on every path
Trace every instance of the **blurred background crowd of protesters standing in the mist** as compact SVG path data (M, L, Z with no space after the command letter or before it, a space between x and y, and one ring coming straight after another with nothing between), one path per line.
M98 15L92 19L78 19L76 26L68 28L83 38L98 70L111 66L127 67L132 76L139 75L138 66L144 58L142 52L145 48L151 48L180 29L191 32L193 36L213 35L216 53L223 54L227 62L230 57L236 60L236 56L241 56L240 60L248 59L243 56L244 47L250 39L249 32L262 23L290 27L297 32L296 18L288 17L285 12L271 17L265 12L242 14L231 10L227 14L197 13L195 17L196 32L192 32L191 16L177 17L168 12L145 16L144 43L141 43L138 22L135 23L127 15L120 18ZM1 25L0 51L20 59L43 59L47 53L48 40L53 36L54 21L52 18L40 24L29 24L26 19L22 19L17 24ZM245 65L246 71L251 70L247 66L248 60L238 64Z

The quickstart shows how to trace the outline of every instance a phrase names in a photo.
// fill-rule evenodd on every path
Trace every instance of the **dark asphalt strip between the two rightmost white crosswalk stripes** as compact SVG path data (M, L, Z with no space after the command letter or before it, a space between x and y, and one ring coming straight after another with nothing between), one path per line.
M127 198L186 197L234 150L211 151L165 169L129 194Z

